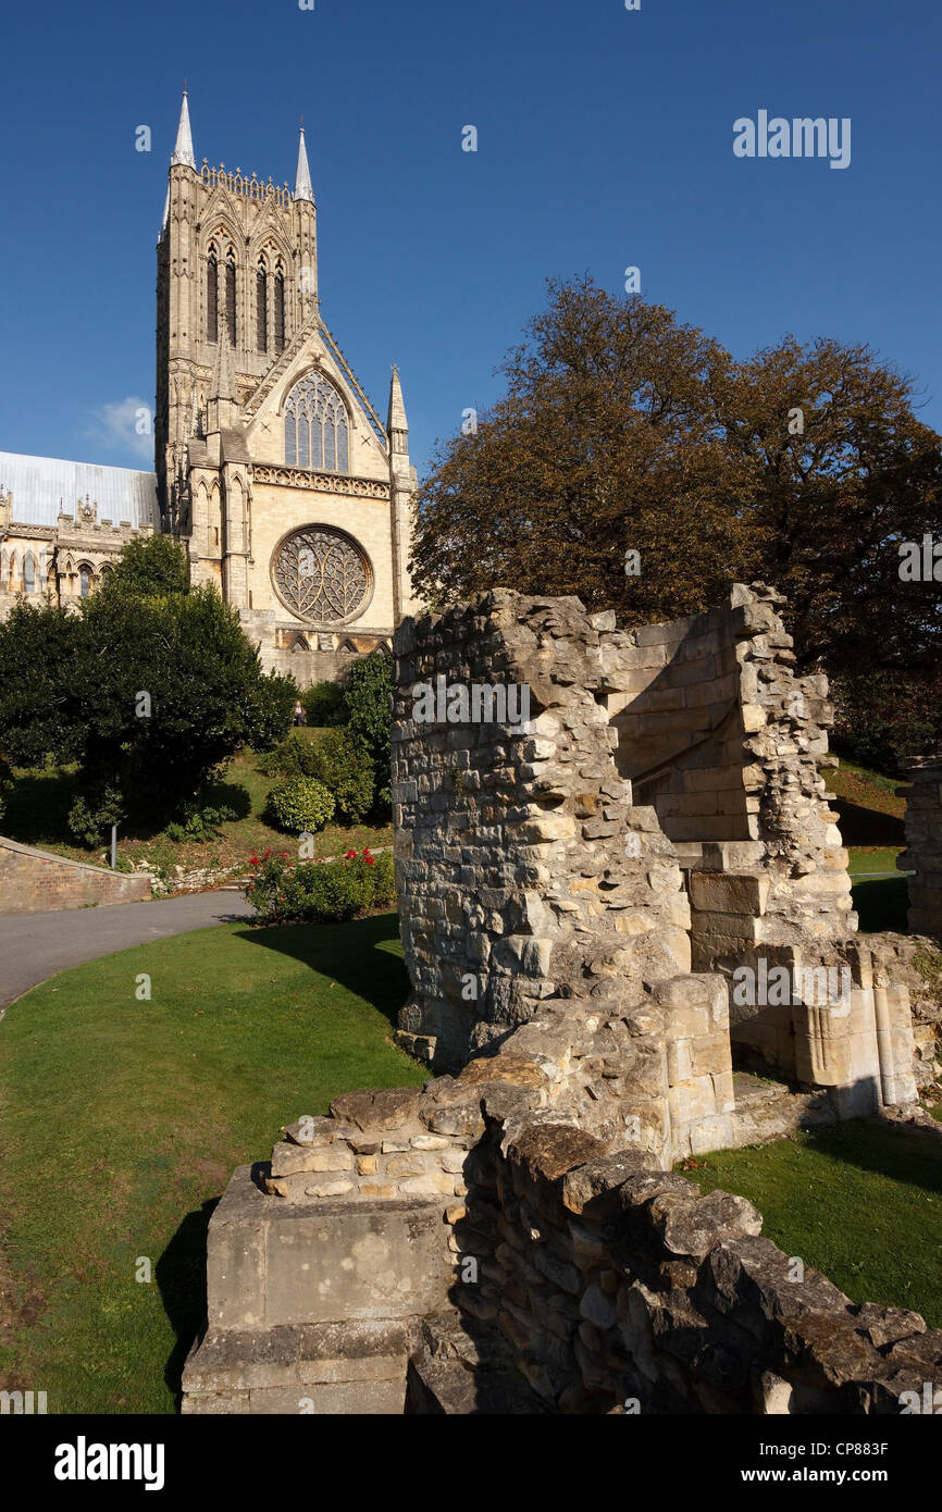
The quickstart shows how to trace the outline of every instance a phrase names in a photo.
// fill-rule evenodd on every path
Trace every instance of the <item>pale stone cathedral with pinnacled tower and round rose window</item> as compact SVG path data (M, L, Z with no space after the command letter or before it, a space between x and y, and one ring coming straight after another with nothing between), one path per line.
M197 168L186 94L157 242L153 473L0 452L0 615L94 593L136 535L186 549L265 667L301 685L416 606L402 387L386 425L321 316L304 130L295 187Z

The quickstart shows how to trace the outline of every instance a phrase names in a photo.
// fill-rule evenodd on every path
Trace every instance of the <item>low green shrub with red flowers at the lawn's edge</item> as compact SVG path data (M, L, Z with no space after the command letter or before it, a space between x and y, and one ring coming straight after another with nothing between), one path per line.
M339 924L395 901L393 857L348 851L337 860L292 862L286 851L251 859L245 898L265 924Z

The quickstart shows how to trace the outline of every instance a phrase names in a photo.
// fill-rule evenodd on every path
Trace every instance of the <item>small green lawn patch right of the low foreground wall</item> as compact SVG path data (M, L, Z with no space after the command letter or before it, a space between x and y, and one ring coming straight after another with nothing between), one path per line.
M853 1302L912 1308L942 1328L942 1143L931 1134L854 1122L703 1158L685 1175L755 1202L786 1255Z

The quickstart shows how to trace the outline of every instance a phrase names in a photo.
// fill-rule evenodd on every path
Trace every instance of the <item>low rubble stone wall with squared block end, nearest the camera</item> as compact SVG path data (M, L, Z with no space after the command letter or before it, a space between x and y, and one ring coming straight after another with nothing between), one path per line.
M339 1098L236 1172L184 1412L898 1414L936 1388L942 1332L570 1122L531 1027L422 1093Z

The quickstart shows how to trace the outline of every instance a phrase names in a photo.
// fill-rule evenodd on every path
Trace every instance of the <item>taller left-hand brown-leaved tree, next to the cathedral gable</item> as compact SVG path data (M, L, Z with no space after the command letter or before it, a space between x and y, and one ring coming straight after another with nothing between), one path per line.
M712 399L732 360L638 296L588 278L549 292L502 366L507 396L420 490L416 587L578 594L629 623L694 612L756 565L748 466Z

